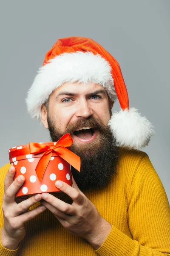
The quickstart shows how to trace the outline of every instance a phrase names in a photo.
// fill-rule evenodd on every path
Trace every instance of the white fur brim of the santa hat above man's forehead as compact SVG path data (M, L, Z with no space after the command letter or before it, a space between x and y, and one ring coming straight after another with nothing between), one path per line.
M41 118L41 106L50 94L65 82L101 84L115 101L116 91L111 76L111 66L105 58L92 52L63 53L40 67L26 98L32 117Z

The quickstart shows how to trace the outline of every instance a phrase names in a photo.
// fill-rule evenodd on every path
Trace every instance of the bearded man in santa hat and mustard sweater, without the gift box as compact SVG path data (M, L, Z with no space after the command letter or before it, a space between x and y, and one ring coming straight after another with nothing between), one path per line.
M112 115L116 97L122 110ZM167 195L147 154L133 149L154 131L129 109L113 56L90 38L59 39L26 102L52 141L71 134L81 171L72 168L73 187L56 181L65 197L42 193L17 204L24 177L13 182L9 164L0 170L1 255L170 255Z

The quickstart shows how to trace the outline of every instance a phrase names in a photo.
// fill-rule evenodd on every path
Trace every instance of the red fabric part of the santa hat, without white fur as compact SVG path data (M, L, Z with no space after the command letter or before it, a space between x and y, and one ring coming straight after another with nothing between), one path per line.
M122 76L122 72L119 66L119 63L116 61L113 56L107 52L101 45L96 43L91 38L83 38L83 37L68 37L68 38L60 38L53 47L46 53L44 63L48 64L49 60L55 58L62 53L71 53L71 52L93 52L94 55L99 54L111 66L111 75L114 81L114 87L116 90L116 94L119 99L120 106L122 110L129 109L129 99L127 94L127 89L125 86L125 81Z

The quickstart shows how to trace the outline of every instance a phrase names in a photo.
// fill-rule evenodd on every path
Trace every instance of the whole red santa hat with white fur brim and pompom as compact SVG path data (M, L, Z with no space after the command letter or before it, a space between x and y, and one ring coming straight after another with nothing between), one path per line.
M155 133L153 126L137 109L129 109L119 63L90 38L61 38L46 53L44 63L28 91L28 112L41 120L41 106L50 94L65 82L77 81L101 84L113 101L119 99L121 111L113 113L108 123L118 145L139 149L149 143Z

